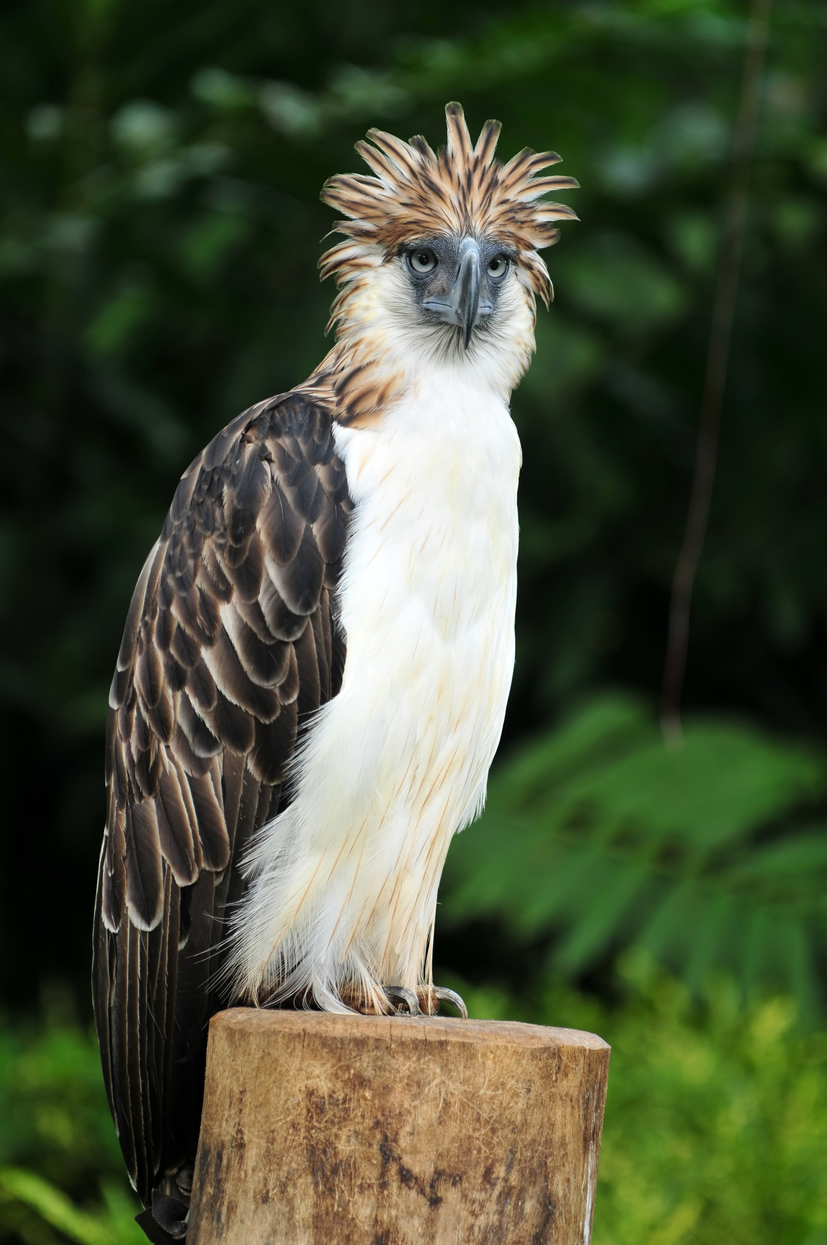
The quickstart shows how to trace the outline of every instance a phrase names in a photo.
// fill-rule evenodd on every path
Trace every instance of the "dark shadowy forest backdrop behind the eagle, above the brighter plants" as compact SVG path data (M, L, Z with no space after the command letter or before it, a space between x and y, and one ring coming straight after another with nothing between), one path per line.
M817 749L827 727L826 12L783 0L772 17L685 688L690 713L735 715ZM331 213L319 189L359 168L352 143L371 125L436 144L446 100L460 98L472 133L496 116L504 156L554 147L582 183L565 195L582 223L564 224L547 254L557 299L539 312L537 359L513 401L524 468L502 751L519 756L608 688L655 703L745 29L746 9L724 0L2 6L7 1006L31 1008L56 980L88 1006L106 693L130 595L197 449L325 351L333 289L319 286L315 265ZM822 815L820 783L811 819ZM808 860L798 869L811 884L807 919L823 933L812 879L823 881L825 862L813 874ZM437 960L471 979L496 965L519 984L559 936L551 920L517 955L498 910L463 920L446 920ZM605 992L625 936L572 972Z

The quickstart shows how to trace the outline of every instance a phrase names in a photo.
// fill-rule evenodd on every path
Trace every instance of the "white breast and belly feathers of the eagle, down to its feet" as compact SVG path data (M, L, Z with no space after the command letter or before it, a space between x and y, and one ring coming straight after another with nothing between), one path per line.
M247 858L233 962L252 997L381 1010L379 985L430 980L445 857L502 731L521 451L504 400L447 370L336 444L356 503L344 681Z

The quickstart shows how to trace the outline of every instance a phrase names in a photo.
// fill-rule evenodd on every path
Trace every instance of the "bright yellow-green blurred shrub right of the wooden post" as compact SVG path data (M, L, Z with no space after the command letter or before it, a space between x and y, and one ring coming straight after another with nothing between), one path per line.
M472 1016L610 1043L594 1245L823 1245L827 1032L726 975L699 998L640 947L619 981L608 1008L551 974L524 996L455 980Z

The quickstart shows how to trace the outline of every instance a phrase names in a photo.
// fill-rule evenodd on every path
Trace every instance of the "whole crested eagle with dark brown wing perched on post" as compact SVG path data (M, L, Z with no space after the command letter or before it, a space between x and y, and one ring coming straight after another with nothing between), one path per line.
M559 161L377 129L333 177L333 350L184 472L110 692L97 1035L123 1157L186 1234L206 1031L232 1003L431 1011L437 885L514 662L509 396ZM154 1193L154 1199L153 1199ZM174 1199L174 1200L171 1200ZM156 1223L158 1221L158 1223Z

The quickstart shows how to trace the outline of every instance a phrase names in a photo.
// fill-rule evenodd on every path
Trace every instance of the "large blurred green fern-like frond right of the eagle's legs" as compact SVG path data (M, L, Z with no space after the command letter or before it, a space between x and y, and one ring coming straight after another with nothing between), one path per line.
M823 1013L827 758L695 718L666 748L648 708L593 700L494 772L448 853L440 928L482 918L554 935L569 976L638 944L694 989L727 970Z

